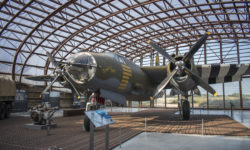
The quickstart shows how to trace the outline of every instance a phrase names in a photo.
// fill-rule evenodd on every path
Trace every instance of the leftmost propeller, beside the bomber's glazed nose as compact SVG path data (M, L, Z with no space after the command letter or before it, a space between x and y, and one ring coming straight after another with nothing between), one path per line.
M48 51L46 51L46 55L48 56L49 61L52 63L52 65L56 67L56 69L55 69L56 76L51 81L51 83L43 90L43 92L41 93L41 95L43 95L44 93L46 93L59 77L63 77L69 83L69 85L71 86L71 88L75 91L78 99L80 99L80 93L76 89L75 85L68 78L70 76L67 73L67 71L64 71L63 68L60 67L59 63L55 61L54 57Z

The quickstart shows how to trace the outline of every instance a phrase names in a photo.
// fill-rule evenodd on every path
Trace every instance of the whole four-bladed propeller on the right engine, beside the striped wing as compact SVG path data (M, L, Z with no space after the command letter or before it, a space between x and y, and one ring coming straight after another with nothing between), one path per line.
M167 86L170 81L171 84L182 94L186 95L186 91L180 90L179 85L176 83L175 79L173 78L176 74L181 74L183 71L192 78L196 84L200 85L202 88L207 90L209 93L213 94L214 96L217 96L217 92L205 81L203 81L198 75L196 75L194 72L192 72L190 69L188 69L185 66L185 63L188 62L191 58L193 58L193 55L199 50L199 48L205 43L205 41L208 38L208 35L210 35L210 32L206 32L196 43L192 46L190 51L182 58L182 60L176 61L174 58L172 58L166 50L158 46L157 44L148 41L148 44L150 44L154 50L158 51L160 54L165 56L171 63L175 64L175 69L157 86L153 97L150 97L150 99L154 99L157 97L157 95L163 90L165 86Z

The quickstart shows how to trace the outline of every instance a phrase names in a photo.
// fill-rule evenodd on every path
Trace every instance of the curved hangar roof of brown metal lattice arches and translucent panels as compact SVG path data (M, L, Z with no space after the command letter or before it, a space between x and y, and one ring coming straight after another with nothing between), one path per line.
M59 61L79 51L116 52L149 65L155 52L147 40L184 53L206 31L211 32L207 63L250 62L249 5L248 0L3 0L0 72L20 83L25 75L50 73L46 51ZM197 63L204 62L203 51L195 55Z

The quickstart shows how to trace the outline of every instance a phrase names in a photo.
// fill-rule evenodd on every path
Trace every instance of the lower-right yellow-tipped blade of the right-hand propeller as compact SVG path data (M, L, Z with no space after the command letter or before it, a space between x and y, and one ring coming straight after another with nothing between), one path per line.
M207 90L209 93L213 94L214 96L217 96L217 92L204 80L201 79L198 75L193 73L191 70L189 70L187 67L184 66L185 73L190 76L198 85L200 85L203 89Z

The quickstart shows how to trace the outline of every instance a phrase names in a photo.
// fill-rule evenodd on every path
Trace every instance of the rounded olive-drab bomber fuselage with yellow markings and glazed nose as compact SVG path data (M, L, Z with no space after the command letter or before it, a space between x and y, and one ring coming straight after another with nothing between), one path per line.
M75 70L70 68L72 66L67 69L80 92L103 89L124 95L128 100L149 100L154 92L155 86L147 74L117 54L82 52L73 55L68 61L82 64Z

